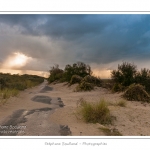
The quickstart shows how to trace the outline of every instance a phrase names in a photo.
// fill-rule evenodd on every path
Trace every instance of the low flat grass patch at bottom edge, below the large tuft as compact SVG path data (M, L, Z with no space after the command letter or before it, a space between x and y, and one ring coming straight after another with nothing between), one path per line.
M117 129L109 129L109 128L100 128L105 135L107 136L122 136L122 134Z

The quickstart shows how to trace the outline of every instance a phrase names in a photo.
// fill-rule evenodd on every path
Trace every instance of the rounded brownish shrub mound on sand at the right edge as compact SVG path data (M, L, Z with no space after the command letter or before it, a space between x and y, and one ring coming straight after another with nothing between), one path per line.
M132 84L124 92L123 97L129 101L150 102L150 96L140 84Z

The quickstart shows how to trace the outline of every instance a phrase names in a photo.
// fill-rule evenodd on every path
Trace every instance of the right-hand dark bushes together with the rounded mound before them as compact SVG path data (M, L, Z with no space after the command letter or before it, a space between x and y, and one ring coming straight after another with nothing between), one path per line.
M150 70L124 62L118 65L118 70L111 72L114 82L112 91L123 92L123 97L130 101L150 102Z

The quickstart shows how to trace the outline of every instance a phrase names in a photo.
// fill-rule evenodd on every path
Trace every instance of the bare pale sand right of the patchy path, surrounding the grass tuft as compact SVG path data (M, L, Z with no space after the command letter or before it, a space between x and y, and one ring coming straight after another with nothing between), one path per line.
M68 125L73 136L100 136L105 135L100 124L85 123L79 119L76 114L77 103L80 98L89 102L97 102L105 99L110 104L110 112L116 117L113 125L106 126L109 129L117 129L125 136L150 135L150 104L141 102L126 101L126 107L115 105L122 100L121 93L111 93L104 88L96 88L91 92L74 92L76 85L67 86L64 83L51 84L53 91L50 92L52 97L60 97L65 105L57 109L50 119L58 124Z

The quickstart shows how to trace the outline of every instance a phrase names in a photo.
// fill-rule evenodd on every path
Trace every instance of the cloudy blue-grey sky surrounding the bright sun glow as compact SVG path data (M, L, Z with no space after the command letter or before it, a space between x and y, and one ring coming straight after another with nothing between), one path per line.
M28 61L4 65L17 52ZM123 61L150 69L150 15L0 15L1 71L46 72L78 61L102 77Z

